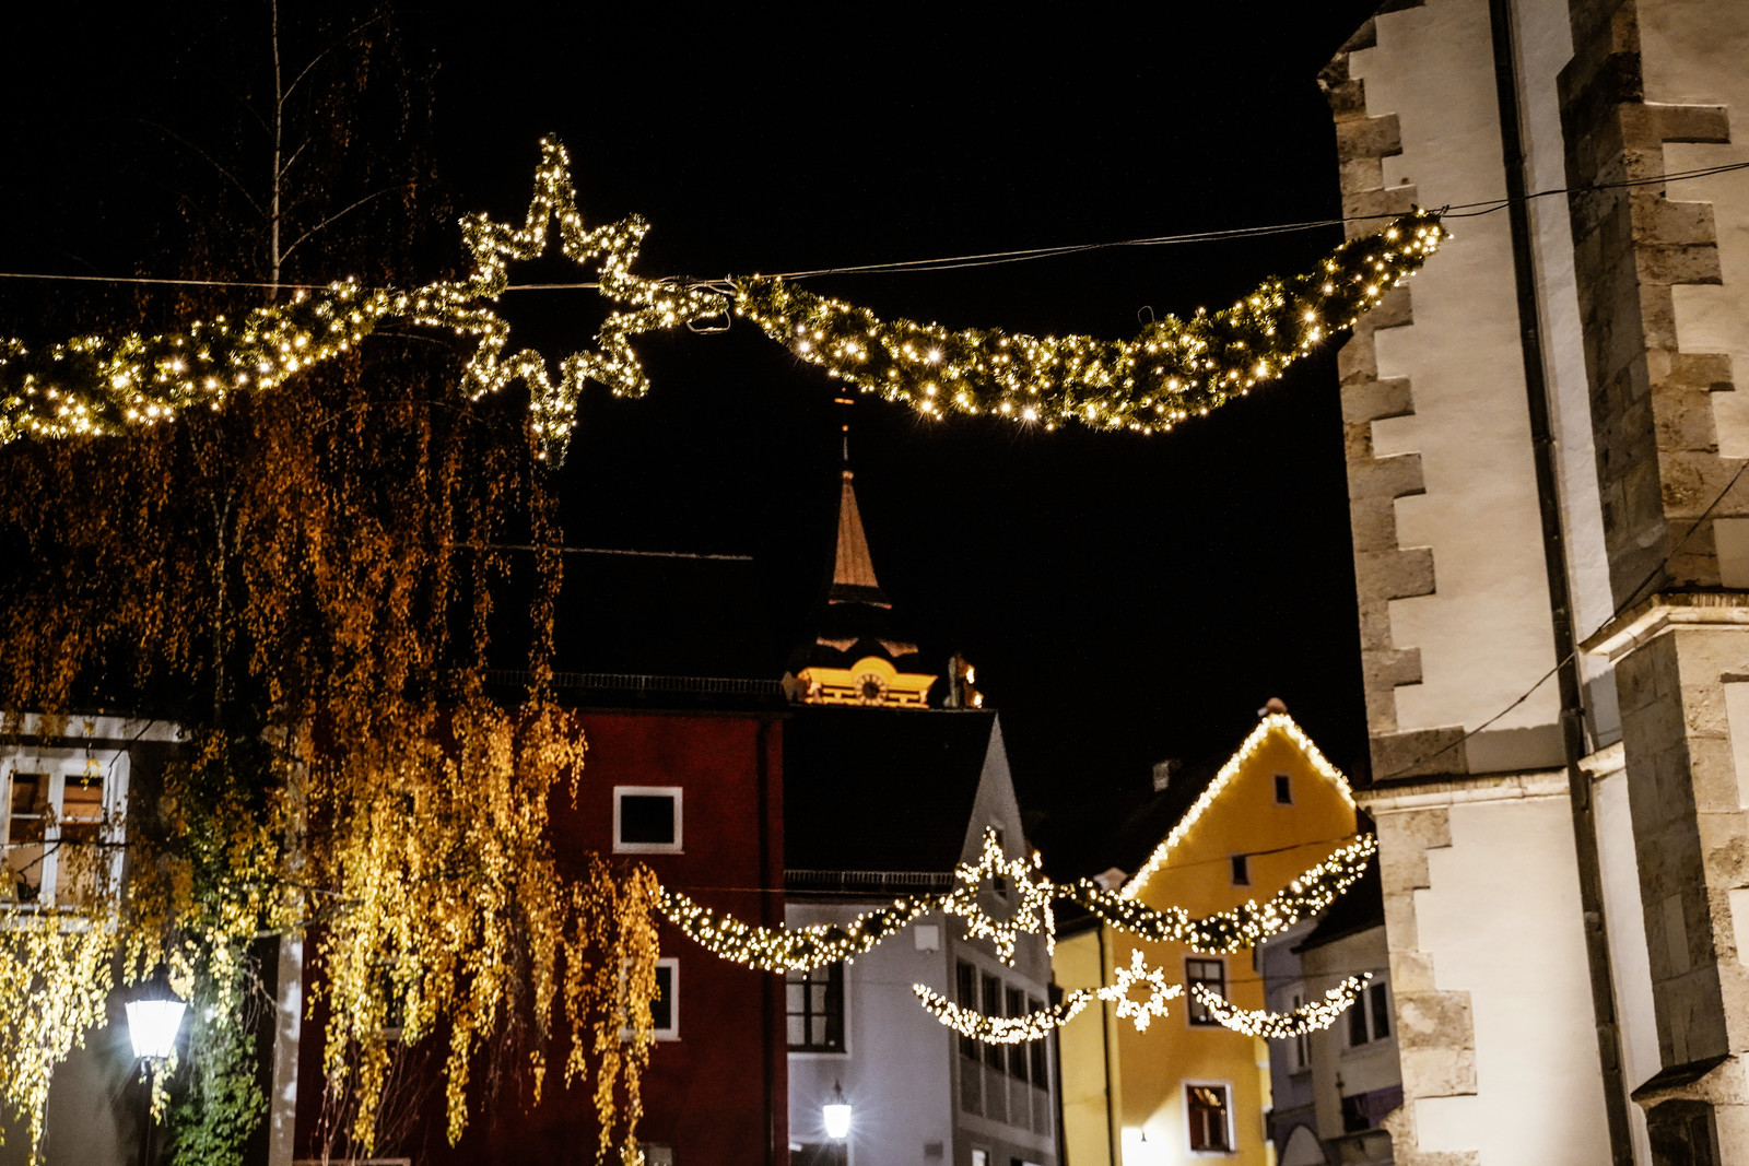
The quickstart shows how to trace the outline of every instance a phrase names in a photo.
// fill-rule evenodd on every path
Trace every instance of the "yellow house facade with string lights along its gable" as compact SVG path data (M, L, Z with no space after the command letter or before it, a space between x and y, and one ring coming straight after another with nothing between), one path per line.
M1200 918L1265 902L1355 832L1347 778L1286 711L1263 717L1212 778L1175 781L1161 797L1184 809L1121 890L1154 909ZM1242 1009L1263 1009L1252 953L1198 953L1098 923L1060 937L1051 970L1063 991L1102 988L1133 951L1184 996L1146 1031L1118 1019L1114 1003L1062 1030L1067 1166L1270 1166L1268 1049L1189 1000L1189 986L1203 982Z

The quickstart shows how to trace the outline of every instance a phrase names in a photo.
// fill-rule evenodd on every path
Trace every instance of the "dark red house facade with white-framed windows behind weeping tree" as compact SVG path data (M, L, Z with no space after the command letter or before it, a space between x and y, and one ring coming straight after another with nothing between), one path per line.
M589 753L577 799L560 788L551 809L560 867L581 867L591 853L642 862L663 886L782 925L782 713L640 708L584 710L579 718ZM666 923L659 977L658 1044L638 1124L649 1166L787 1166L784 981L719 960ZM324 1161L320 1012L303 1024L297 1059L297 1159ZM474 1096L456 1147L442 1136L441 1082L432 1075L404 1089L416 1105L411 1133L380 1147L381 1159L593 1159L593 1082L565 1087L553 1072L533 1108L519 1089L490 1101Z

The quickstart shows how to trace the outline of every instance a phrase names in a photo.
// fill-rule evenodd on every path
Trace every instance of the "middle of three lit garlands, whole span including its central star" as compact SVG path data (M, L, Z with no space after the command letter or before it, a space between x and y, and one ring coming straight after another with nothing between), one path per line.
M838 960L854 960L930 911L944 911L965 920L965 933L995 942L997 954L1006 953L1004 961L1013 967L1014 940L1020 935L1039 932L1053 935L1051 902L1056 899L1081 904L1111 927L1142 939L1181 942L1198 951L1231 953L1252 947L1263 939L1287 930L1305 916L1327 907L1336 900L1336 895L1361 878L1366 862L1376 851L1378 839L1362 834L1315 867L1303 871L1261 907L1245 904L1203 918L1193 918L1182 907L1156 911L1133 899L1102 890L1086 879L1060 885L1042 876L1034 878L1041 858L1037 855L1030 860L1002 858L993 834L985 834L979 862L958 865L955 888L946 895L894 899L890 907L861 914L848 925L754 927L735 916L717 914L668 888L658 892L656 902L663 914L701 947L761 972L803 972ZM990 918L978 904L978 888L983 879L992 876L1011 879L1020 893L1020 904L1007 920Z

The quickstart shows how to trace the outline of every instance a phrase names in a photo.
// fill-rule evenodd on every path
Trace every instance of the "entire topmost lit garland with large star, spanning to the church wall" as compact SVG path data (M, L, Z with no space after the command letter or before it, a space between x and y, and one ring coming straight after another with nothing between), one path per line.
M490 306L509 287L509 262L540 257L554 220L560 252L577 264L595 260L600 292L617 304L593 350L560 360L556 381L533 348L507 351L509 325ZM320 292L301 290L287 304L257 308L236 323L217 316L159 336L82 336L42 350L0 337L0 446L21 437L114 435L171 421L192 407L220 409L229 393L275 388L357 346L381 320L401 318L477 337L462 372L463 392L477 400L526 383L540 453L561 462L584 381L619 397L649 390L631 336L698 327L729 311L721 292L633 274L647 233L649 222L638 215L586 227L565 147L542 140L523 226L486 215L462 220L474 262L465 280L411 292L331 283ZM1128 341L950 332L936 323L881 322L866 308L782 278L728 283L733 311L796 355L925 416L955 409L1046 428L1079 420L1151 434L1245 395L1333 330L1352 327L1443 238L1436 213L1403 215L1380 234L1343 243L1310 274L1265 280L1228 309L1198 309L1191 320L1167 316Z

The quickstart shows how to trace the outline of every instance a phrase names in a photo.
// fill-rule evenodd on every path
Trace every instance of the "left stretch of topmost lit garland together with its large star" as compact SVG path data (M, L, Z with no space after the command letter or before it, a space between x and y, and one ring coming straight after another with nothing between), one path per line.
M600 260L602 294L624 304L602 323L596 351L574 351L560 362L556 385L535 350L504 353L509 325L481 302L505 290L507 260L537 259L546 250L553 219L565 257L579 264ZM224 316L196 322L185 334L82 336L40 351L0 337L0 446L19 437L110 435L170 421L198 406L219 409L229 393L275 388L348 351L385 316L395 316L477 336L462 374L463 392L477 400L525 381L542 456L563 460L586 379L621 397L640 397L649 388L630 336L728 311L728 299L717 292L633 274L647 233L649 222L637 215L584 229L565 147L542 140L523 227L486 215L462 220L462 239L474 259L467 280L413 292L332 283L320 294L297 292L285 306L257 308L234 325Z

